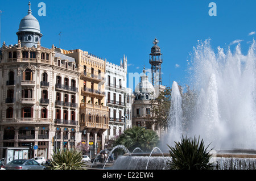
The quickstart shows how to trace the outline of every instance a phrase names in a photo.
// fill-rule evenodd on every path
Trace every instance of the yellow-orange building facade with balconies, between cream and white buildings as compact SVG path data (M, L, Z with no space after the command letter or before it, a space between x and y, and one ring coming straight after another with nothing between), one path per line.
M76 59L80 73L79 124L82 132L81 141L90 145L90 150L93 150L93 153L97 153L104 149L104 132L109 128L109 109L105 106L106 60L81 49L63 50L61 53Z

